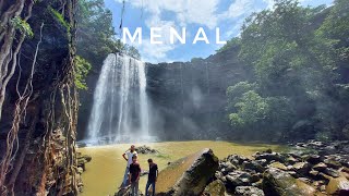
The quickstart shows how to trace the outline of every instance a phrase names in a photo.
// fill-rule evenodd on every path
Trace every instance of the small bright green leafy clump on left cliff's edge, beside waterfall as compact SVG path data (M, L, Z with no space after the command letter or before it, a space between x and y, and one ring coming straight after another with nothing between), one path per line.
M85 78L91 70L92 65L82 57L75 57L75 75L74 83L77 89L87 89Z

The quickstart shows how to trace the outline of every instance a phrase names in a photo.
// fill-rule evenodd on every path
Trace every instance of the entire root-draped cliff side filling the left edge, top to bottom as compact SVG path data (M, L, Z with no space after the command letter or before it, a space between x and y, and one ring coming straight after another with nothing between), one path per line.
M0 1L0 195L79 192L75 5Z

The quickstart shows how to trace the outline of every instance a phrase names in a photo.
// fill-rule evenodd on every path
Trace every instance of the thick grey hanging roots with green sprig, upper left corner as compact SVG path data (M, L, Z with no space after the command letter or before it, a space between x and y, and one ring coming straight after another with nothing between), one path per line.
M17 54L25 37L33 36L27 24L33 5L34 0L0 0L0 120L5 89L16 69ZM24 16L23 20L21 16Z

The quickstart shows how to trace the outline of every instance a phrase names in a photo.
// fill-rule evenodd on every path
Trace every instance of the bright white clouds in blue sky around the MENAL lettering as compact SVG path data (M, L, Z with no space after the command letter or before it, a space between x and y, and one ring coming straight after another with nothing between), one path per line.
M115 0L122 2L122 0ZM214 29L220 23L229 24L224 37L230 38L232 35L239 34L239 28L243 19L252 12L260 11L261 0L232 0L227 4L228 10L222 13L217 13L218 5L221 0L128 0L132 7L142 9L147 13L145 25L151 27L159 27L163 29L161 40L163 45L151 45L148 38L143 37L143 44L136 46L144 57L145 61L159 62L169 61L168 52L178 48L179 42L171 45L169 42L169 29L174 27L190 26L196 24L198 26L206 26ZM274 0L263 0L268 8L273 7ZM260 5L258 5L260 4ZM174 19L165 20L164 14L174 14ZM148 29L143 29L148 30ZM186 37L189 37L186 29ZM188 42L188 41L186 41Z

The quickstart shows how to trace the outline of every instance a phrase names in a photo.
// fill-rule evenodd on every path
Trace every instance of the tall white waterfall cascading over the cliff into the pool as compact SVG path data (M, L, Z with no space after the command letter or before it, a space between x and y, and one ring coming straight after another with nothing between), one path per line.
M148 126L145 63L125 54L109 54L94 93L88 140L148 140Z

